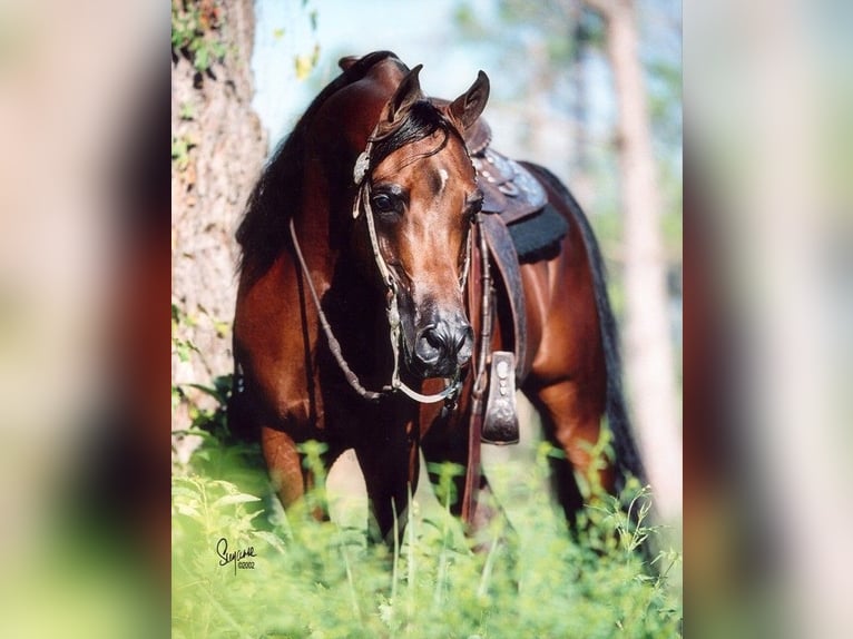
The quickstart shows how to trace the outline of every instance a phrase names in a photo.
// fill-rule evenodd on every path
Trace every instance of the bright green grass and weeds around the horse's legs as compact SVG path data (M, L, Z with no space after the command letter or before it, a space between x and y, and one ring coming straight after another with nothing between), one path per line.
M202 436L173 476L175 638L679 636L680 592L668 578L680 556L659 554L660 576L651 577L633 547L658 532L643 520L629 524L616 500L588 508L572 539L542 490L543 448L533 463L492 469L514 532L499 520L480 539L490 549L473 552L459 522L420 493L393 549L367 543L366 525L352 513L310 518L322 494L285 514L257 446ZM636 499L625 503L640 509L647 493L631 490ZM254 548L254 568L219 566L222 538L229 550Z

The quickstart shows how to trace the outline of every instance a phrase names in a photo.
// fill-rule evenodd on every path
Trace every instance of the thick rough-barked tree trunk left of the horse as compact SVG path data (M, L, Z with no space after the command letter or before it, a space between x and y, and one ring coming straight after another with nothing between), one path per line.
M267 147L251 105L253 0L190 0L182 7L200 16L207 41L224 51L202 72L193 51L173 46L171 68L173 304L186 313L176 337L197 347L188 361L173 356L173 383L209 384L232 367L234 230ZM186 425L179 423L184 417L175 421L173 426Z

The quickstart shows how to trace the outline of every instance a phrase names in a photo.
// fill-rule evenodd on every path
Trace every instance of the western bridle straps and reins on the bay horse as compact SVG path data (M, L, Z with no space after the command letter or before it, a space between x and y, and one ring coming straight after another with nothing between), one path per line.
M352 368L350 368L350 365L346 363L346 360L344 358L343 353L341 351L341 344L335 338L334 333L332 332L332 326L329 324L329 320L326 318L325 313L323 312L323 308L320 305L320 297L317 296L316 289L314 288L314 283L311 281L311 276L308 275L310 271L307 268L307 265L305 264L305 258L302 255L302 249L300 248L300 243L296 237L296 229L293 224L293 217L291 217L291 220L290 220L291 239L293 240L293 247L296 253L296 257L300 262L300 267L302 269L303 276L305 278L305 282L308 285L311 297L314 301L314 306L316 307L317 315L320 317L320 324L323 327L323 333L325 334L326 341L329 342L329 348L332 352L332 355L334 356L335 362L337 362L337 365L343 372L344 377L346 379L350 386L352 386L352 389L360 396L370 401L379 401L383 395L388 395L390 393L401 391L403 394L408 395L415 402L420 402L422 404L431 404L434 402L442 402L442 401L453 402L453 400L457 397L457 394L459 393L462 386L462 380L459 374L459 368L457 370L457 374L452 379L447 380L447 385L444 386L443 391L441 391L440 393L431 394L431 395L424 395L422 393L419 393L418 391L410 387L400 379L400 343L403 338L403 335L402 335L402 325L400 320L400 309L398 307L398 281L392 274L391 269L389 268L388 263L385 262L385 258L382 256L382 252L380 250L379 237L376 235L376 226L373 219L373 208L371 207L371 204L370 204L370 194L371 194L371 186L370 186L370 179L369 179L370 163L371 163L370 154L373 150L373 141L378 135L378 130L379 130L379 125L374 127L373 131L367 138L367 146L359 155L359 158L356 159L355 166L353 168L353 181L355 186L359 188L355 195L355 199L353 200L353 219L357 219L359 216L361 215L361 212L362 210L364 212L366 225L367 225L367 235L370 237L370 244L373 250L373 258L376 263L376 268L379 269L380 277L382 278L382 284L385 286L385 313L388 316L389 338L391 341L391 350L394 355L394 370L391 373L391 384L389 386L384 386L381 391L369 391L361 384L359 376L352 371ZM449 132L449 135L452 135L452 134ZM461 139L461 136L460 136L460 139ZM467 153L467 147L465 147L465 153ZM474 216L474 224L479 224L479 216ZM472 234L469 230L468 238L465 239L465 260L462 267L462 275L460 277L460 283L459 283L460 288L463 291L468 279L468 272L470 269L471 242L472 242Z

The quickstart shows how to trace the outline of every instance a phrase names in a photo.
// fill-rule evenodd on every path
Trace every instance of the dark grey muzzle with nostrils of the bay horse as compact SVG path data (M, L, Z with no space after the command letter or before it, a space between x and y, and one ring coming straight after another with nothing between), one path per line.
M461 314L433 317L414 337L412 364L422 377L452 377L468 364L473 351L473 328Z

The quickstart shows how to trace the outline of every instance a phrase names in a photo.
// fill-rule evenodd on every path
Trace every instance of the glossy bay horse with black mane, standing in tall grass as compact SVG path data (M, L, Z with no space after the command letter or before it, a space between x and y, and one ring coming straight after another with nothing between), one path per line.
M284 507L315 485L301 444L316 440L326 468L354 450L379 540L402 534L419 451L465 469L452 509L481 527L494 513L478 499L489 482L472 416L484 355L512 340L527 345L519 387L566 453L553 474L566 513L582 505L573 472L608 491L641 475L596 239L569 191L535 165L528 175L567 230L548 255L516 264L524 334L508 328L512 287L482 259L486 183L469 148L486 73L447 101L426 98L421 66L390 51L341 68L267 163L237 230L229 424L259 436ZM472 294L483 289L488 315ZM597 462L605 416L614 454Z

